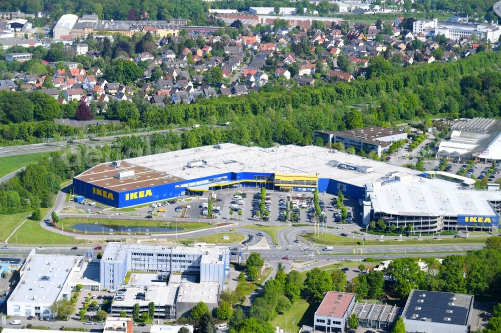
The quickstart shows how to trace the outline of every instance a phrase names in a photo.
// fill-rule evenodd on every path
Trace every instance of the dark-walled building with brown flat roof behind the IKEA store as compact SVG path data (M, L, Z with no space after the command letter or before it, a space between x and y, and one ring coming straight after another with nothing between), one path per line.
M393 128L370 126L343 131L314 130L314 142L317 137L321 137L324 144L341 142L345 148L352 146L357 151L363 149L367 153L374 150L381 157L393 142L406 139L407 133Z

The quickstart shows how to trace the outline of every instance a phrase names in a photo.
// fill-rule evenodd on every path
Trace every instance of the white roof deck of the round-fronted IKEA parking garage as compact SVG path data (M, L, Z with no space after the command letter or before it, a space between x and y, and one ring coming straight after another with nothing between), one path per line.
M414 176L409 180L374 184L374 211L416 216L495 215L488 200L501 200L501 191L461 189L457 183Z

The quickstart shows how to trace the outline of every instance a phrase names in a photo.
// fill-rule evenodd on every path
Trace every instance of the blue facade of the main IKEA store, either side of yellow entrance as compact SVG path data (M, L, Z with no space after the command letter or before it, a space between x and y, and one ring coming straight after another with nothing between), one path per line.
M134 206L148 202L159 200L166 200L169 198L184 195L188 187L195 187L200 185L210 185L214 182L230 182L239 181L237 186L245 187L261 187L274 188L273 182L259 182L273 176L273 172L225 172L215 175L210 175L202 178L191 180L182 180L158 186L148 186L144 188L137 188L129 191L117 192L112 189L100 187L82 181L78 178L73 178L74 193L83 195L89 199L102 202L117 208ZM364 186L356 186L346 182L342 182L330 178L319 178L318 189L321 192L336 195L340 190L346 198L359 199L365 195ZM295 191L313 191L311 187L294 187Z

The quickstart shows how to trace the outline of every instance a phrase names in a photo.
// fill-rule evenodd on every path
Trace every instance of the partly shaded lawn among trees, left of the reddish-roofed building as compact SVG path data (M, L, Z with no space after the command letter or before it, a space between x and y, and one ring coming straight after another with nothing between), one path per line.
M277 315L270 321L272 327L280 326L284 331L296 332L303 325L311 325L317 304L310 304L306 300L298 300L287 311Z

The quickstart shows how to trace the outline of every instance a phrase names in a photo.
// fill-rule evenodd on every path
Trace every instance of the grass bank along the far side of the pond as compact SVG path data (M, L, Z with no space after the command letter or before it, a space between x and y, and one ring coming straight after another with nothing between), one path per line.
M213 227L213 224L203 223L203 222L166 222L166 221L155 221L151 219L111 219L111 218L87 218L87 217L64 217L61 218L59 226L63 226L64 229L70 229L71 226L75 224L94 224L97 222L99 225L105 228L110 225L120 225L120 230L127 232L127 227L143 226L143 227L172 227L177 226L178 232L183 232L185 230L197 230ZM175 233L175 230L173 231ZM101 233L101 232L96 232Z

